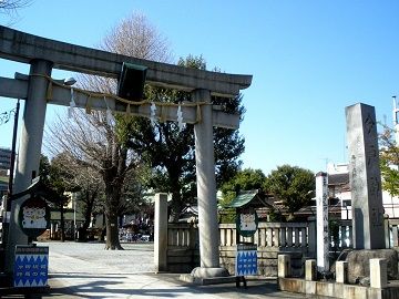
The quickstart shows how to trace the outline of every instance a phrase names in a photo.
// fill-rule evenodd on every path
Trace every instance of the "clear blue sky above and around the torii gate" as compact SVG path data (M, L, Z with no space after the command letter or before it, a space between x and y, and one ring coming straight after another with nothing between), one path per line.
M391 124L399 95L399 1L396 0L32 0L11 22L28 33L95 47L122 18L147 17L165 35L175 60L203 55L207 69L252 74L246 107L244 167L267 175L290 164L314 172L347 161L345 107L362 102ZM23 64L0 60L0 76ZM64 73L53 72L53 78ZM0 99L0 113L17 101ZM48 107L51 123L54 109ZM11 147L12 122L0 125Z

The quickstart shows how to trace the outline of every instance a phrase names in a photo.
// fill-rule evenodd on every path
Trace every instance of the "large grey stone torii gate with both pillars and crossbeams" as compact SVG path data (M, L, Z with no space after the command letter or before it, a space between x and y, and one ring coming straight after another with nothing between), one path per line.
M194 124L195 156L198 198L200 228L200 276L217 276L219 267L218 223L216 205L216 183L214 167L213 126L237 128L239 115L224 113L211 104L211 96L236 96L250 85L252 75L236 75L187 69L177 65L141 60L75 44L54 41L21 31L0 27L0 58L30 64L25 79L0 78L0 96L25 100L19 158L13 190L20 193L31 184L32 173L39 173L43 126L47 104L70 105L71 87L57 84L51 79L52 69L86 74L119 78L122 64L132 63L146 68L146 83L192 93L194 104L182 105L185 123ZM129 104L115 96L101 95L101 101L88 92L74 89L78 107L129 112L134 115L151 116L150 103ZM90 92L91 94L94 94ZM95 97L95 96L94 96ZM100 95L99 95L100 97ZM104 101L105 100L105 101ZM123 100L123 99L122 99ZM126 109L127 107L127 109ZM200 115L201 114L201 115ZM176 121L177 107L156 111L163 120ZM10 231L7 249L6 270L12 272L13 248L17 244L28 244L28 238L18 226L17 214L24 199L12 203ZM221 269L222 271L218 271Z

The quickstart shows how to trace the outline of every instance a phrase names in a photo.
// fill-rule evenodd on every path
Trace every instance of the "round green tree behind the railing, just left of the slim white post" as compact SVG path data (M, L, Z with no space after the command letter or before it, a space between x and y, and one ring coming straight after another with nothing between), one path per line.
M315 175L297 166L283 165L272 171L264 188L283 200L290 217L301 207L309 204L315 190Z

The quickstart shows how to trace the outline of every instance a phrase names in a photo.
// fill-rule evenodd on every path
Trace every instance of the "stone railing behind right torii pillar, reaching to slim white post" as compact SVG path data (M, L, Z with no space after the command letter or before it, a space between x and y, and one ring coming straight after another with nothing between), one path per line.
M313 223L260 223L256 234L250 238L237 236L235 224L221 224L221 265L235 271L236 245L254 243L258 247L259 274L275 276L277 256L291 255L293 266L301 269L301 258L311 257L310 246L315 246ZM186 272L200 265L198 229L190 224L167 224L167 269L174 272Z

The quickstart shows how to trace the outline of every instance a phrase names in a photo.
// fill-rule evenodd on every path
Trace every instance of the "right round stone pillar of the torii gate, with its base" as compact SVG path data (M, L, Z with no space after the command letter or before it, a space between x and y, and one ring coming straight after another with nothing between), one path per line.
M202 106L201 121L194 125L201 267L195 268L192 276L200 278L227 276L227 270L219 267L211 92L195 90L192 99L194 102L207 103Z

